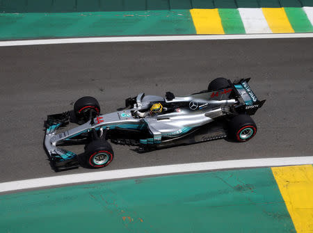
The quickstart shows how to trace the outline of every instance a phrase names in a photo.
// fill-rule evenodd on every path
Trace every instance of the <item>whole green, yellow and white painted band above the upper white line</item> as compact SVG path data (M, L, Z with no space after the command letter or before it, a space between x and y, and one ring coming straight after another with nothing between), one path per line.
M313 7L0 14L0 40L313 32Z

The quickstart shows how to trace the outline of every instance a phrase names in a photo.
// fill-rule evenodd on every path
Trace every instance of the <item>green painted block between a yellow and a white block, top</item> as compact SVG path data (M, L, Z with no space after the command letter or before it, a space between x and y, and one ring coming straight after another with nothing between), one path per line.
M225 34L244 34L246 30L237 9L218 9Z

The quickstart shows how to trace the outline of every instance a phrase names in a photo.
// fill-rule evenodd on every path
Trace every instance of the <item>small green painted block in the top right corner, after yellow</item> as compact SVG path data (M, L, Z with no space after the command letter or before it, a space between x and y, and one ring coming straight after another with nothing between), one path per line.
M295 33L313 32L313 26L303 8L284 8Z

